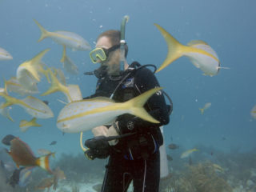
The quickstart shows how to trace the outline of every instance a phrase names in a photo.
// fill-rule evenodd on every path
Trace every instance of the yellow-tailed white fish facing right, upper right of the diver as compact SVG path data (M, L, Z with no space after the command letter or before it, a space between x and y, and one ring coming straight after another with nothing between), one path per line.
M184 46L164 30L162 26L158 24L154 25L158 27L158 30L160 30L168 46L166 60L162 62L162 66L158 68L157 72L169 66L170 63L174 62L176 59L186 56L190 58L194 66L202 70L205 75L214 76L218 74L221 68L218 55L206 42L193 40L188 43L188 46Z

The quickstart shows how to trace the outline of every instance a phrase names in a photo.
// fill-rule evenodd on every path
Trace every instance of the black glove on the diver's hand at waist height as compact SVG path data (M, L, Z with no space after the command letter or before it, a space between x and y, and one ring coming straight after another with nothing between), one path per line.
M87 139L85 146L89 149L85 151L87 158L107 158L110 154L110 145L105 136L98 136Z

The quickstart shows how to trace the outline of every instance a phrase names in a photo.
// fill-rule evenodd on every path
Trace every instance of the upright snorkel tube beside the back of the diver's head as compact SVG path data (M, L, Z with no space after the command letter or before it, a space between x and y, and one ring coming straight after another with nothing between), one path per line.
M121 39L120 39L120 71L125 70L125 45L126 45L126 39L125 39L125 34L126 34L126 22L128 22L129 16L126 15L122 18L121 22Z

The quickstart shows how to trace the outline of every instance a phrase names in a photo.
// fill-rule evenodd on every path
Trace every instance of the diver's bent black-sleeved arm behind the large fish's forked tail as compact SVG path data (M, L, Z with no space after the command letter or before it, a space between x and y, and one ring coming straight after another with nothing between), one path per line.
M151 90L154 87L159 87L157 78L155 78L154 74L146 68L138 70L135 77L135 84L140 94L146 92L146 90ZM134 115L124 114L122 117L118 118L119 129L125 130L128 128L127 126L134 126L134 129L146 129L163 126L169 123L169 109L166 106L166 101L161 90L149 98L145 108L147 112L160 123L147 122Z

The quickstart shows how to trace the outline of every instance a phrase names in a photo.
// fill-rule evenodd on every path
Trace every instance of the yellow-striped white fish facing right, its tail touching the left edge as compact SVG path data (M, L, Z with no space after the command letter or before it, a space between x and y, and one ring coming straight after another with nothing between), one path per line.
M6 99L6 102L0 106L0 109L4 109L7 106L18 105L21 106L28 114L35 118L52 118L54 114L50 107L46 105L45 102L42 102L38 98L32 96L27 96L23 99L18 99L11 97L6 94L5 91L0 91L0 96Z

